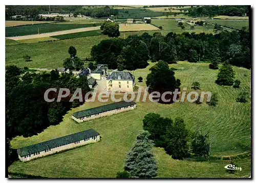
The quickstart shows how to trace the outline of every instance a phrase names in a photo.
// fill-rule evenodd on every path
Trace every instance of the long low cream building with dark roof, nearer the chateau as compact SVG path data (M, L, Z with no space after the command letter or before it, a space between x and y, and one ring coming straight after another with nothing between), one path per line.
M109 116L124 111L133 110L136 108L136 102L119 101L115 103L106 104L96 108L91 108L83 111L78 111L72 114L72 119L80 123L103 116Z

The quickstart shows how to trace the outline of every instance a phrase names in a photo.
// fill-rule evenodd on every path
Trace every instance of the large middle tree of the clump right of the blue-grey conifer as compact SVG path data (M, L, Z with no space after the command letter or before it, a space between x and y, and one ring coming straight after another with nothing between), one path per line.
M167 154L172 155L173 159L183 160L188 153L188 130L182 118L176 118L174 124L166 129L164 147Z

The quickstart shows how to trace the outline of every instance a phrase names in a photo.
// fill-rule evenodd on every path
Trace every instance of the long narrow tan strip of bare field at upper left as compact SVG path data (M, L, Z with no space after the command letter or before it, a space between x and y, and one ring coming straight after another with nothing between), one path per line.
M27 35L27 36L15 36L15 37L7 37L7 38L17 41L17 40L24 40L24 39L35 39L35 38L57 36L62 34L79 33L79 32L85 32L85 31L94 31L99 29L100 29L100 26L97 26L97 27L90 27L90 28L79 28L79 29L71 29L66 31L57 31L57 32L51 32L51 33L33 34L33 35Z

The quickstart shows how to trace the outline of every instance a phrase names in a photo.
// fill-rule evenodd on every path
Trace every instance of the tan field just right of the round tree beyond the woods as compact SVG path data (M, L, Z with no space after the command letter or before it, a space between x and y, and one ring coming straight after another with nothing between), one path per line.
M151 24L136 24L136 23L121 23L119 24L119 31L126 32L126 31L153 31L159 30L157 27Z

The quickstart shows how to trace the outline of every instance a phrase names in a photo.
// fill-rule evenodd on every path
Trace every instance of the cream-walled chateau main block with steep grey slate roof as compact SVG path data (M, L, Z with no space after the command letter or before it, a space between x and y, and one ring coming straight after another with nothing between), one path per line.
M135 77L131 72L113 71L106 78L106 87L109 91L116 90L119 92L133 91L135 85Z

